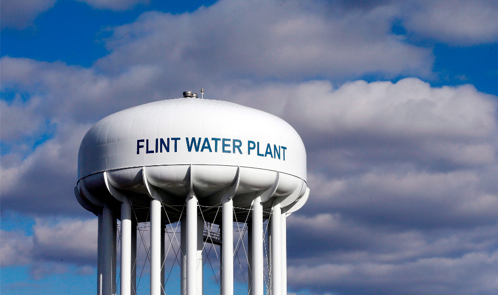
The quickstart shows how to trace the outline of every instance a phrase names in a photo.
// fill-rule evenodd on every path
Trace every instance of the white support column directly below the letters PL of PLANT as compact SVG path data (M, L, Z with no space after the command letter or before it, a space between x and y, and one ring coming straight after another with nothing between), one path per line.
M253 287L252 295L263 295L263 205L261 197L254 199L253 204L253 226L252 226L252 271Z

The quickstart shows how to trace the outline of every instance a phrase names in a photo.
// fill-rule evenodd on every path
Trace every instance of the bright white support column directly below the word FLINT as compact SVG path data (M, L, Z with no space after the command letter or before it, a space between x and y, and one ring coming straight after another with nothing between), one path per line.
M150 295L161 295L161 202L150 200Z

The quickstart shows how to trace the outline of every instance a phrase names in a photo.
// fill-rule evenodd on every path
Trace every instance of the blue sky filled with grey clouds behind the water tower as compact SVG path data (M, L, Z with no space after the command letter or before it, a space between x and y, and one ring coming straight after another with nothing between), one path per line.
M498 2L0 5L3 294L95 293L97 220L73 191L84 134L201 87L304 141L290 294L498 293Z

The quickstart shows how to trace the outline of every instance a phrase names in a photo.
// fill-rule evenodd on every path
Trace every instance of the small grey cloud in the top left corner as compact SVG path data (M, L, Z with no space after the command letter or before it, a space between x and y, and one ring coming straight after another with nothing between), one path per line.
M2 28L23 29L33 24L35 18L52 8L57 0L2 0Z

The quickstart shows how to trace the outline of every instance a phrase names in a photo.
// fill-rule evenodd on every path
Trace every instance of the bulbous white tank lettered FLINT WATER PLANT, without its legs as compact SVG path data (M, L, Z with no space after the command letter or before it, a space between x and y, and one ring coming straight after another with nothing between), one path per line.
M266 208L281 198L282 207L295 210L307 188L306 152L297 132L254 108L180 98L105 117L86 133L78 154L80 202L92 212L99 203L92 196L119 211L112 190L128 195L140 211L152 194L166 205L181 205L191 186L199 205L214 206L236 181L237 208L266 192ZM140 214L141 221L146 215Z

